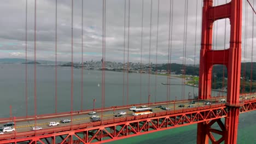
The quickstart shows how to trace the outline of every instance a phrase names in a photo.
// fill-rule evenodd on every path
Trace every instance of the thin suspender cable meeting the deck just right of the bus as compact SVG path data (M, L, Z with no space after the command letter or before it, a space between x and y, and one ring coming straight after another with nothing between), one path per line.
M158 0L158 24L156 28L156 52L155 52L155 103L156 103L156 82L158 80L158 27L159 27L159 0Z

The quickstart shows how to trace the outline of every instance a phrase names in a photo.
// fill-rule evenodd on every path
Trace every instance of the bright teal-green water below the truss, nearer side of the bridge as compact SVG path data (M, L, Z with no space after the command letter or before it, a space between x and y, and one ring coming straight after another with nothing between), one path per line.
M256 111L242 113L238 125L238 144L255 144L256 143ZM154 143L175 143L175 144L195 144L196 143L197 125L188 125L185 127L174 128L169 130L158 131L146 135L140 135L108 142L108 144L154 144ZM223 142L224 143L224 142Z

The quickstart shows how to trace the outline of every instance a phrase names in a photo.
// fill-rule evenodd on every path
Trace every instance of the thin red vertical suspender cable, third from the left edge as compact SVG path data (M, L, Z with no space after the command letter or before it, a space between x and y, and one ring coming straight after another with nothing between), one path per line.
M55 1L55 113L57 113L57 0Z

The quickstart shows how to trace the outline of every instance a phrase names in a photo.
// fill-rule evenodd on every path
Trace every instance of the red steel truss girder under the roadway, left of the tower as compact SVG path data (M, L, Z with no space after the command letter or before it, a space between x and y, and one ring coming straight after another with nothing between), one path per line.
M203 108L198 107L194 108L194 110L190 109L190 111L189 109L184 109L179 111L179 113L165 111L165 115L162 115L162 113L163 112L156 112L150 115L132 116L130 121L121 121L122 118L119 118L119 120L117 118L115 119L116 123L112 122L110 124L103 124L104 121L102 121L102 124L101 122L96 122L95 125L97 126L88 128L80 128L80 125L73 125L73 130L68 131L54 132L56 128L53 128L51 133L47 134L45 132L44 134L35 136L26 135L28 132L23 134L16 133L16 139L13 139L14 135L10 134L10 137L6 137L6 139L0 141L0 143L102 143L182 127L184 125L212 121L227 116L224 105L212 105ZM127 119L129 119L129 117L127 117ZM114 120L111 119L107 121L109 123L109 121ZM32 131L32 133L34 132ZM56 142L57 138L61 138L62 141Z

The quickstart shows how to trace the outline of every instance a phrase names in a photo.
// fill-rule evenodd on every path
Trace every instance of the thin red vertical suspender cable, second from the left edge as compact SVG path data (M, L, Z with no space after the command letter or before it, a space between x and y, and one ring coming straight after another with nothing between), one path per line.
M37 124L37 0L34 0L34 125Z

